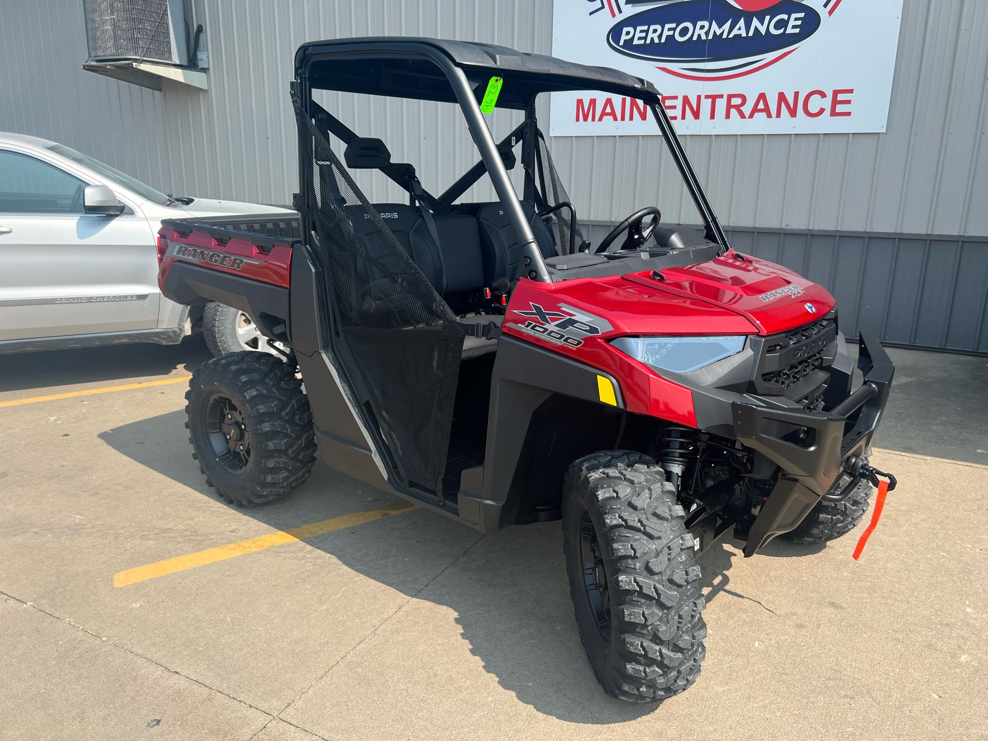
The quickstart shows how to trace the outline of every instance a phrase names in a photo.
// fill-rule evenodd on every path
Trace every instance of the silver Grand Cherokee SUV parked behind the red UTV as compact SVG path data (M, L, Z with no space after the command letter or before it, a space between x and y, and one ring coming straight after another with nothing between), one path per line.
M214 354L271 352L241 312L158 288L161 219L231 213L291 211L173 197L70 147L0 132L0 354L174 344L201 317Z

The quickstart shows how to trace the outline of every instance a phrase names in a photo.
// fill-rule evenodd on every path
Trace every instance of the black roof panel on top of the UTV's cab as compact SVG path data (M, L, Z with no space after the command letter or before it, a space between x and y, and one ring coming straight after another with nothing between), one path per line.
M458 67L482 95L487 80L504 78L499 108L524 109L545 92L599 90L650 102L655 87L610 67L594 67L544 54L475 41L372 37L309 41L295 53L295 72L311 87L368 95L453 103L444 68Z

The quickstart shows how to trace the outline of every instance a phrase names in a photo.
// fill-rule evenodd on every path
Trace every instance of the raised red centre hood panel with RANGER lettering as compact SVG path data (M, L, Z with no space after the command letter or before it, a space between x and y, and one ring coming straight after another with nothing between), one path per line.
M775 334L822 317L836 305L824 288L781 265L728 253L705 263L663 270L664 281L650 273L624 280L674 296L689 297L740 314L759 334Z

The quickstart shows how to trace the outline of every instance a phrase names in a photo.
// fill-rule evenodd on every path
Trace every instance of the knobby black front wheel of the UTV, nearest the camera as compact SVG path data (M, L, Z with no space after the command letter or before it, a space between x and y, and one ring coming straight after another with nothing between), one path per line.
M665 472L640 453L574 462L563 549L580 637L612 697L654 701L700 675L706 625L700 566Z

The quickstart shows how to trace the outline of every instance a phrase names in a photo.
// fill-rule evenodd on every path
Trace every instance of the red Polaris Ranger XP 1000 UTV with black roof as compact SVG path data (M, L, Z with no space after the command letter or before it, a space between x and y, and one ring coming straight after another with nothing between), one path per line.
M852 389L834 298L730 248L641 79L406 38L306 43L294 70L297 218L161 230L165 295L246 311L286 349L284 362L237 353L193 376L189 428L208 482L259 505L319 455L483 533L561 519L604 689L687 689L703 659L700 552L729 530L751 556L777 535L828 540L862 519L884 475L867 452L888 356L862 333ZM383 141L320 106L313 93L327 90L455 104L480 160L435 196ZM676 166L656 178L682 180L702 231L635 205L599 243L584 239L535 117L539 96L569 91L654 118ZM521 119L500 142L493 109ZM333 138L347 168L378 170L407 202L368 203ZM498 200L461 203L484 176Z

